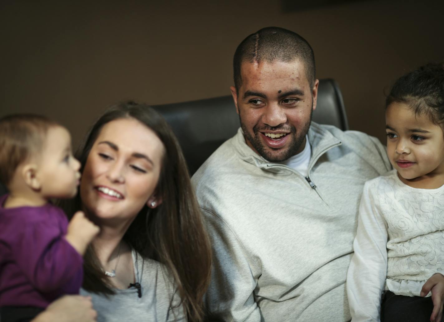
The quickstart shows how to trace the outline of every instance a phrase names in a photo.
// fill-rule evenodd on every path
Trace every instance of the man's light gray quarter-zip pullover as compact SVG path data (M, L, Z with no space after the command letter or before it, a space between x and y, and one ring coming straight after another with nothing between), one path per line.
M387 172L385 147L312 123L305 179L263 159L242 131L194 174L213 246L210 321L345 322L345 278L364 183Z

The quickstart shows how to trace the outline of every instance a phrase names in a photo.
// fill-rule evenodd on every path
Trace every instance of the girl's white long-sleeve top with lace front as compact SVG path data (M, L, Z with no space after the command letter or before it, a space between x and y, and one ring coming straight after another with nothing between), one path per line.
M412 188L396 170L365 183L353 248L352 321L379 321L383 290L419 296L428 278L444 273L444 186Z

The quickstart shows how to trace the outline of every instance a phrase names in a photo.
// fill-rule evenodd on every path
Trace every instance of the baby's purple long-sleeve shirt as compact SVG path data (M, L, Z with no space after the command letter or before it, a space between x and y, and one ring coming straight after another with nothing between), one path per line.
M45 308L78 294L83 258L65 239L66 215L50 203L5 209L7 197L0 197L0 306Z

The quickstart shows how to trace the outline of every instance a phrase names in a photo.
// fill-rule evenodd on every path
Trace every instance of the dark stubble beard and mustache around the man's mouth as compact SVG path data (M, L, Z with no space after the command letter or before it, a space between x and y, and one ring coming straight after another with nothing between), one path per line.
M245 138L250 141L251 145L254 147L256 151L258 151L259 155L262 156L262 158L271 161L271 162L282 162L289 158L291 158L293 155L296 155L297 151L301 147L301 144L304 143L305 135L307 135L308 130L310 128L311 119L313 116L313 103L312 103L312 109L310 112L310 119L307 123L305 123L304 127L302 128L299 135L296 136L296 128L292 125L289 126L278 126L278 127L262 127L260 130L270 130L270 131L278 131L278 130L290 130L290 133L287 135L292 135L291 142L289 147L286 148L285 151L282 151L281 153L274 154L271 153L271 151L278 151L279 149L273 149L271 147L265 146L261 139L259 138L259 129L254 127L254 136L250 134L249 131L247 131L247 128L245 124L242 122L241 115L239 114L239 120L241 122L241 128L244 133Z

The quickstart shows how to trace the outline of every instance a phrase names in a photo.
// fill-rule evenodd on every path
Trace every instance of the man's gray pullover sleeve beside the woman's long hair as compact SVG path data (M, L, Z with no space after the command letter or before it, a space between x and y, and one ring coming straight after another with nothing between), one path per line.
M205 295L208 321L261 321L253 291L260 270L234 232L211 211L202 210L213 246L211 282Z

